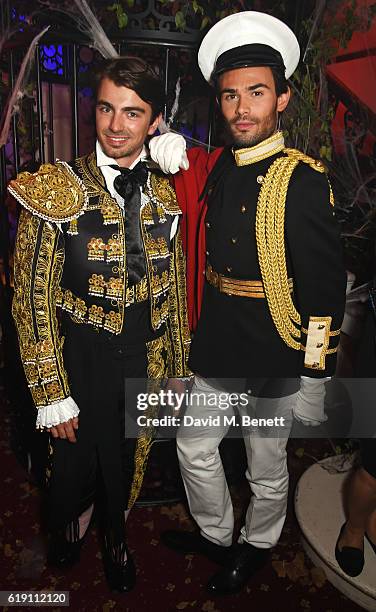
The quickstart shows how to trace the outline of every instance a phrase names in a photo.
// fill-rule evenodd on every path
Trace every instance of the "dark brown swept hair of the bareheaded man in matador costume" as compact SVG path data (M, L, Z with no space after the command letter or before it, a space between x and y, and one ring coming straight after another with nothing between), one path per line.
M128 87L150 104L152 121L162 112L164 89L161 77L143 59L133 55L124 55L116 59L105 60L95 73L94 93L97 97L101 81L110 79L118 87Z

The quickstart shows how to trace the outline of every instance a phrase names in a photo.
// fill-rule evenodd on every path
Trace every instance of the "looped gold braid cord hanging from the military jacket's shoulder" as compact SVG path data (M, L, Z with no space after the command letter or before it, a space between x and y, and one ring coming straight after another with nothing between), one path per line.
M262 183L256 212L256 243L264 292L274 325L282 340L300 350L301 317L291 298L284 240L286 196L291 175L299 162L317 172L325 167L296 149L284 149L270 166Z

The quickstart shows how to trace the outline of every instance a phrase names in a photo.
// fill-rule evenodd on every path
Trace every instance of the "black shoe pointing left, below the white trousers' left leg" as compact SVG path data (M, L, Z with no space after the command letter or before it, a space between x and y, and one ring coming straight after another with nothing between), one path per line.
M214 544L197 531L164 531L161 541L172 550L183 554L199 553L219 565L226 564L232 550L232 546Z

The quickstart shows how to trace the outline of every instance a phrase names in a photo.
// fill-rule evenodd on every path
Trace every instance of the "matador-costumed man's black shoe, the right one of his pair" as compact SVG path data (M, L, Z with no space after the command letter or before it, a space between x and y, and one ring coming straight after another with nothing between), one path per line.
M136 584L136 567L124 542L116 547L105 546L103 565L112 591L128 593L133 589Z

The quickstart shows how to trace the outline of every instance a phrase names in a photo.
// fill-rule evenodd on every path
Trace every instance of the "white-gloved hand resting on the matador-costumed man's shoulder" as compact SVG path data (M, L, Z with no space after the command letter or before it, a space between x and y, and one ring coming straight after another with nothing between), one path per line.
M167 132L149 141L150 157L165 174L176 174L179 168L188 170L187 144L180 134Z

